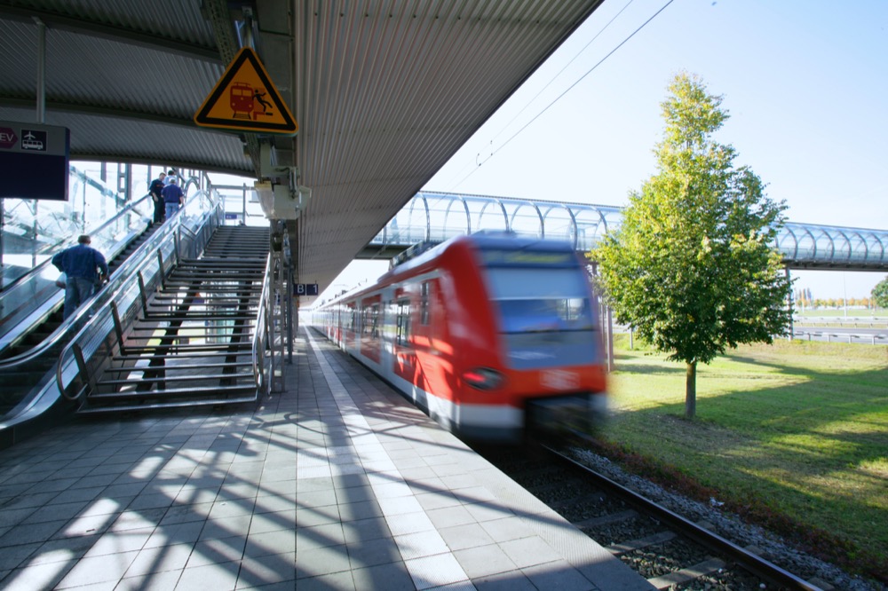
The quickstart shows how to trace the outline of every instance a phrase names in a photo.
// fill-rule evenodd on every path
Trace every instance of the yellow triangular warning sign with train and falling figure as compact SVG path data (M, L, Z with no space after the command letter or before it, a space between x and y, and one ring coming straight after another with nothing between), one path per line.
M234 56L194 114L194 122L203 127L254 133L294 135L299 130L266 68L250 47L242 48Z

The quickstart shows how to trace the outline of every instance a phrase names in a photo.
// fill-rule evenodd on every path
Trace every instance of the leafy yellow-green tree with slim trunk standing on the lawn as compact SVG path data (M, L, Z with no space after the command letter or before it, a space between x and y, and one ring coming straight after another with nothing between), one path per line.
M696 414L699 362L786 333L791 282L773 248L785 204L764 194L732 146L712 140L728 114L697 76L678 74L662 102L657 171L630 193L622 225L591 256L620 322L686 363L685 414Z

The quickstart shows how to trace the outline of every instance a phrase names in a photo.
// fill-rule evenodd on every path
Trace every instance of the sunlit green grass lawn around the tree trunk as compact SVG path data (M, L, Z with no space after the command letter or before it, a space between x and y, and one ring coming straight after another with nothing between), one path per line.
M698 366L686 421L684 364L617 339L608 441L775 517L769 525L786 516L836 536L815 543L846 565L888 564L888 347L743 346Z

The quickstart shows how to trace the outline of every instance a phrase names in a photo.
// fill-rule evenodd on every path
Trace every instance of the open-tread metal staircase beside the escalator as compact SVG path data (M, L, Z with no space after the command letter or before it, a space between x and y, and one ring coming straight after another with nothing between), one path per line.
M78 413L256 400L252 342L268 242L266 228L223 226L153 293L139 276L141 310L131 321L112 310L116 343L97 376L75 348L86 376Z

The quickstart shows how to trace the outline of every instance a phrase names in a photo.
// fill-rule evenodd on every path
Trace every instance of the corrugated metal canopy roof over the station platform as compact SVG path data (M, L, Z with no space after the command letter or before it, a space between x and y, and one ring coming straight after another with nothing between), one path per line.
M0 0L0 120L44 104L73 159L248 177L273 146L324 288L601 1ZM193 122L250 39L296 136Z

